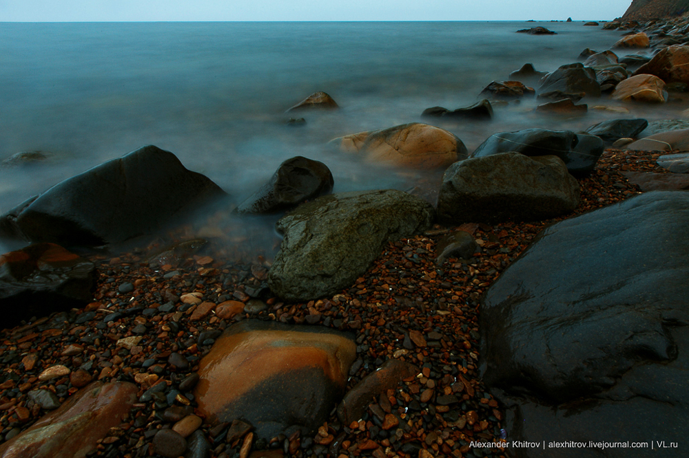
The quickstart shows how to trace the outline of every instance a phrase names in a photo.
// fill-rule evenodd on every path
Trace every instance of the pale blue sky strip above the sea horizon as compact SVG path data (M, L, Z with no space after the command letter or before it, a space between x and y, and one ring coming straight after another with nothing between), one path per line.
M0 0L0 22L564 21L620 17L631 0Z

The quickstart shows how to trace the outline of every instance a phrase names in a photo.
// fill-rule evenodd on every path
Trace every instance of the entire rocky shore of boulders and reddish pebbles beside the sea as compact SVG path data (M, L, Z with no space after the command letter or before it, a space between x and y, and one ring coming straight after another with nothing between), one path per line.
M646 63L605 51L545 75L525 65L513 75L537 89L495 81L473 107L424 116L486 120L490 100L529 94L557 103L546 113L608 93L666 100L668 85L689 85L689 46L670 43L684 25L620 24L630 34L616 49L663 47ZM337 104L320 92L288 111L314 108ZM5 237L41 242L0 259L0 303L23 308L0 341L0 455L504 457L515 450L470 444L641 434L604 430L597 415L661 417L644 430L679 440L681 426L663 424L686 423L686 395L664 380L681 386L689 350L687 194L641 192L689 188L688 127L524 129L471 154L418 122L337 138L329 146L364 161L444 169L437 204L331 194L327 165L294 157L236 208L273 215L284 234L274 260L249 264L188 237L84 251L227 204L168 151L145 146L65 180L0 217ZM99 406L116 413L104 422Z

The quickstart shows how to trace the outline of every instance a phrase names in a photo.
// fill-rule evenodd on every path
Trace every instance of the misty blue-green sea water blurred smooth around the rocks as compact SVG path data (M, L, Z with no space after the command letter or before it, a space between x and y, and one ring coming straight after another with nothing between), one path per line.
M557 34L515 33L535 25ZM41 166L0 170L0 211L145 144L172 151L235 203L295 155L325 162L335 192L407 189L423 182L421 172L363 164L325 145L426 122L472 151L499 131L636 117L590 110L549 118L533 113L533 99L495 107L490 122L420 117L429 107L471 105L524 63L553 71L586 47L607 50L621 33L582 22L2 23L0 160L19 151L52 156ZM285 113L315 91L341 109ZM584 102L615 105L605 96ZM649 119L667 117L646 111ZM301 116L304 126L285 124Z

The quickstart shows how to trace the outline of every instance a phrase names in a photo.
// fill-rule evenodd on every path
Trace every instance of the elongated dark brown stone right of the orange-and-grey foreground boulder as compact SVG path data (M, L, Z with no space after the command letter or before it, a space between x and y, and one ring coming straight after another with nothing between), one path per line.
M405 378L419 373L418 367L400 360L387 360L380 369L369 373L347 392L338 405L338 418L342 424L358 421L364 413L371 398L378 397L389 389L396 389Z

